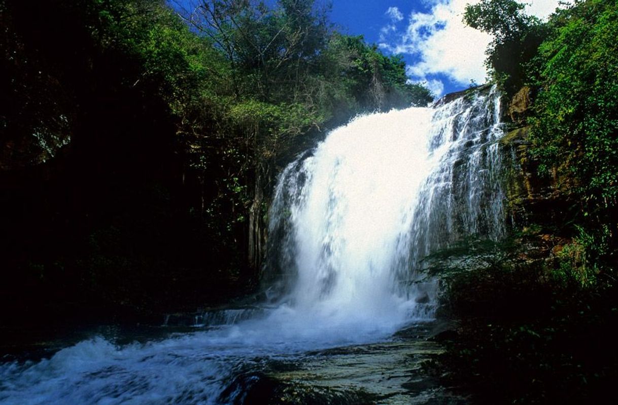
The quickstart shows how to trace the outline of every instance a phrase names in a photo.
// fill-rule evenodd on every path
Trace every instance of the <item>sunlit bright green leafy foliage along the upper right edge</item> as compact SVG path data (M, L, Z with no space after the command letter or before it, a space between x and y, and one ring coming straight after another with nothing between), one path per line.
M582 1L557 14L539 49L531 153L541 172L575 179L588 262L614 273L618 240L618 5Z

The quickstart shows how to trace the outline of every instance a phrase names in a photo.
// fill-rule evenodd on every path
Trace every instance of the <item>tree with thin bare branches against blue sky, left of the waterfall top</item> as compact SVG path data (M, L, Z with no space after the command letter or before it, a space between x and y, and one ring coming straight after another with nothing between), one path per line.
M298 101L302 79L328 36L313 0L203 0L185 17L213 40L238 73L237 94Z

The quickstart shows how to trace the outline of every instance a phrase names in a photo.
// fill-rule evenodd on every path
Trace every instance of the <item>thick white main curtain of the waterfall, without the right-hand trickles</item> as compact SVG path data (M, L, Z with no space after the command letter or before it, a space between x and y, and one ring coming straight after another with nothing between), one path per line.
M287 299L304 322L397 327L410 315L392 270L418 189L439 160L425 139L431 116L412 108L358 117L283 174L271 227L292 225ZM279 201L284 193L293 201Z

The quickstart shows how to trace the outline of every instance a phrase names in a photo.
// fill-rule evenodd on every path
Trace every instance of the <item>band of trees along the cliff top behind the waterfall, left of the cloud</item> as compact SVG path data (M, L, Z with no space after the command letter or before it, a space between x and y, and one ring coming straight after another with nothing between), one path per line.
M323 122L431 101L425 88L407 83L400 57L384 56L360 36L329 31L327 11L313 0L282 0L277 7L210 0L185 18L229 61L241 98L303 104Z

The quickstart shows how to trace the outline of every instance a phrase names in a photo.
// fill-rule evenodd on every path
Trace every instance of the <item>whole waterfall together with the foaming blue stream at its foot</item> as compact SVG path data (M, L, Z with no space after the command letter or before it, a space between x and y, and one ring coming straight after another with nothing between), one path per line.
M268 299L0 364L2 404L459 404L423 376L426 254L504 232L499 96L357 117L279 177ZM130 336L129 336L130 337Z

